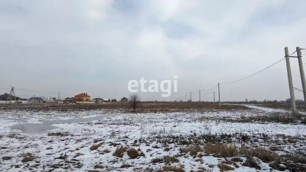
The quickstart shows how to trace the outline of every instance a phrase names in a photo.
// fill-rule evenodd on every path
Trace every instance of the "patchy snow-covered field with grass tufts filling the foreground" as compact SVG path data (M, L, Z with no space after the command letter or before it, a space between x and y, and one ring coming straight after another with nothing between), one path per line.
M289 111L247 106L250 109L118 116L110 114L120 110L0 109L0 171L278 171L284 170L282 163L272 169L269 163L276 160L260 158L263 153L251 157L250 163L242 148L264 148L278 155L305 152L305 124L241 120ZM109 116L90 122L65 121L101 115ZM57 119L63 120L52 125L57 129L26 132L29 123L35 126L41 120ZM222 146L220 152L211 151L212 145L234 146L235 155L227 155L230 150L222 153Z

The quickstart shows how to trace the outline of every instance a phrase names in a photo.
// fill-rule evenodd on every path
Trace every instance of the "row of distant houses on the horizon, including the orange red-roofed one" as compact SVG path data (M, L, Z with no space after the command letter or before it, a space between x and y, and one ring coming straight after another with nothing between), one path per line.
M0 100L7 100L9 98L9 94L4 93L0 95ZM15 97L12 96L12 100L15 100ZM29 99L21 99L16 96L17 101L28 101L28 103L48 103L58 101L58 103L104 103L104 102L117 102L116 99L103 99L103 98L95 98L90 99L90 96L87 93L80 93L75 95L74 97L67 97L65 100L57 100L52 96L42 96L42 97L31 97ZM126 97L121 98L121 102L127 102L128 99Z

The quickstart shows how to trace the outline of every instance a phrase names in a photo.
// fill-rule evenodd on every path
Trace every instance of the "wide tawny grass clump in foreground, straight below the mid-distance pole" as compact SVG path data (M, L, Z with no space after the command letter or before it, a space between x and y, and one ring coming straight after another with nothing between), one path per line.
M204 146L206 153L217 157L233 157L237 155L238 149L234 146L224 144L210 144Z

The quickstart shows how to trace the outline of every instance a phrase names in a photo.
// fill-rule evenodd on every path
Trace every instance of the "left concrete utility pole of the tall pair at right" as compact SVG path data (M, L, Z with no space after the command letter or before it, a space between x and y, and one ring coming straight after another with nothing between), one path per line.
M288 74L288 82L289 82L289 92L290 92L290 99L291 99L292 115L293 115L293 120L295 120L295 116L297 114L297 107L295 106L295 98L294 98L294 90L293 90L293 83L292 83L292 76L291 76L291 67L290 67L288 47L285 47L285 58L286 58L286 66L287 66L287 74Z

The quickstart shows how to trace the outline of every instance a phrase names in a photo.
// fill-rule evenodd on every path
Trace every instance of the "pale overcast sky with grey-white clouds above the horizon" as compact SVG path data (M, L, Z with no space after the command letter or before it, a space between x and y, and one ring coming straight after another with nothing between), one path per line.
M173 81L177 75L178 92L170 97L140 95L185 100L190 92L264 69L284 57L286 46L289 53L306 48L305 6L304 0L2 0L0 88L120 99L129 95L129 80ZM293 85L301 88L297 58L290 62ZM218 87L211 91L217 99ZM221 101L286 99L285 60L220 85L220 92ZM302 92L295 97L303 99Z

